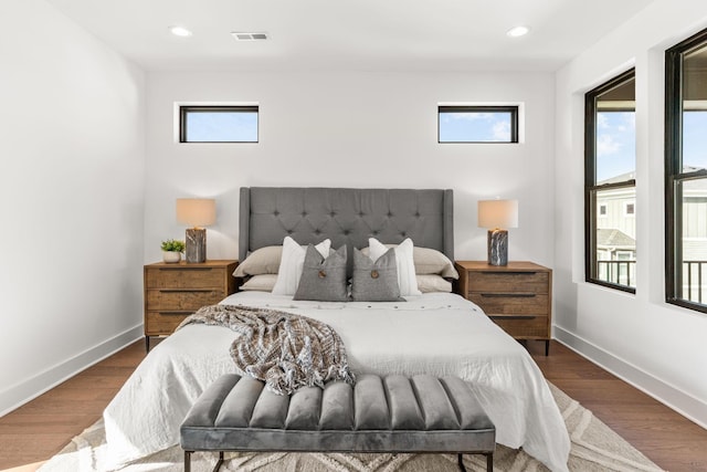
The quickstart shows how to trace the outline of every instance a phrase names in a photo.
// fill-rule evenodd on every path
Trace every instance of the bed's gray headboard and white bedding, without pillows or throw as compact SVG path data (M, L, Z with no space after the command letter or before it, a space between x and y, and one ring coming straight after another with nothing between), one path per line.
M333 249L407 240L454 260L453 193L440 189L243 188L239 259L283 244L330 241ZM350 268L349 268L350 270ZM354 373L456 375L469 382L496 424L497 441L524 448L550 470L567 470L570 441L550 390L528 353L473 303L453 293L400 302L293 300L263 290L222 304L279 310L327 323ZM238 335L189 325L156 346L104 411L113 464L178 443L179 424L203 389L234 371Z

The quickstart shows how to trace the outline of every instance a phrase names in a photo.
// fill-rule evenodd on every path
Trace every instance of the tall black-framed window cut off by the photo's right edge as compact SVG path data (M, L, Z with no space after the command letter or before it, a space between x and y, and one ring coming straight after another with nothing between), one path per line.
M666 298L707 313L707 30L665 66Z

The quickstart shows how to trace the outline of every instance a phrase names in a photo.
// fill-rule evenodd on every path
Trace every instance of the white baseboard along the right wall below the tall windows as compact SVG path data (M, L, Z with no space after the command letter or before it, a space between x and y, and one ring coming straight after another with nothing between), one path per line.
M707 402L559 326L555 326L555 337L580 356L707 429Z

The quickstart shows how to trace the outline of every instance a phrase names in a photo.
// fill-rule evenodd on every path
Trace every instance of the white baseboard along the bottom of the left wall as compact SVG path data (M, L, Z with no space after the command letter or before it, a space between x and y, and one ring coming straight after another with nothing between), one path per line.
M144 336L143 325L135 326L114 336L97 346L46 369L28 380L0 391L0 417L20 408L59 384L70 379L96 363L112 356Z

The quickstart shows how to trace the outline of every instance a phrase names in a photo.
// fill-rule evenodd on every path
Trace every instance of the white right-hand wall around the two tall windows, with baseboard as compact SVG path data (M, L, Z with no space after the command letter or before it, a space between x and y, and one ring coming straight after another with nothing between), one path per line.
M664 55L707 28L704 0L658 0L557 74L556 335L707 426L707 315L667 305ZM636 294L584 281L583 95L636 70Z

